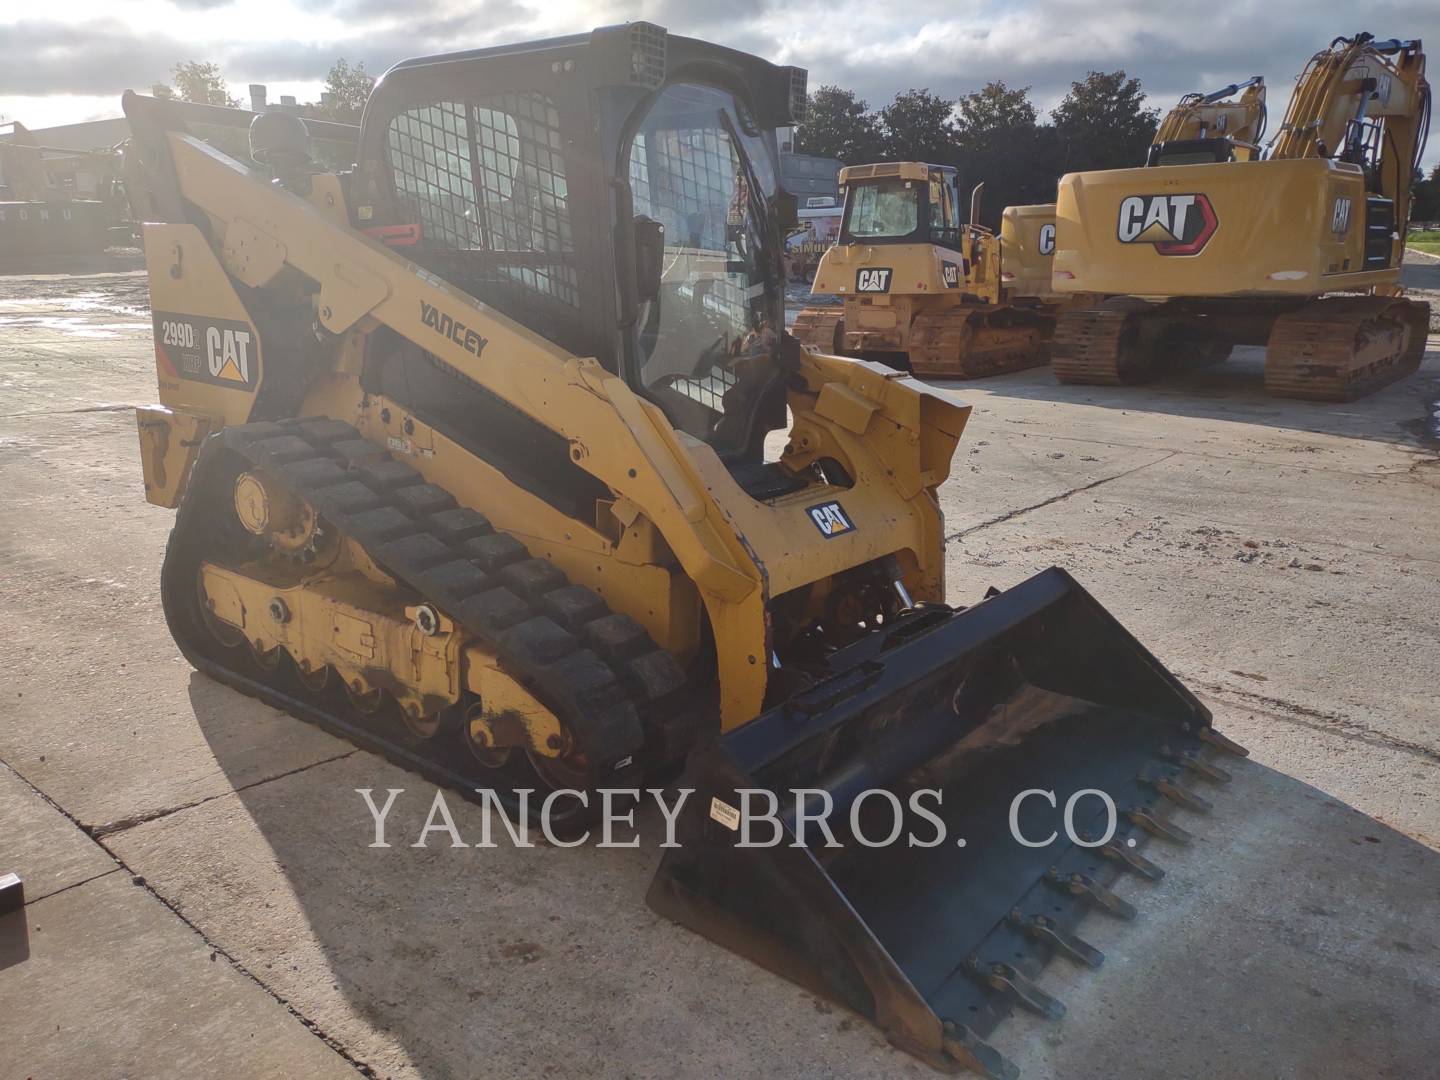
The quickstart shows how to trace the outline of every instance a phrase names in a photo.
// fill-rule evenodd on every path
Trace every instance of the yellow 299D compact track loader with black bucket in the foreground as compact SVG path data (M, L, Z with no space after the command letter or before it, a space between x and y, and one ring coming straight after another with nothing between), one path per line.
M969 409L783 330L804 102L632 23L400 63L331 174L292 115L261 168L128 94L161 599L200 671L554 835L688 756L655 910L1009 1077L985 1035L1060 1014L1044 965L1240 750L1063 570L943 603ZM922 844L860 842L887 806Z

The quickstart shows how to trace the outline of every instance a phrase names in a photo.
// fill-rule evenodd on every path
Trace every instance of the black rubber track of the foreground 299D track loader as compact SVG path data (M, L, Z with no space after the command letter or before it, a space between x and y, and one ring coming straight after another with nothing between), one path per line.
M500 768L481 765L465 743L459 710L422 739L397 710L359 708L334 678L327 688L310 690L292 662L258 664L243 635L235 642L215 632L196 582L206 562L240 564L264 543L240 528L232 510L233 481L252 468L278 475L325 527L357 541L416 602L433 603L492 649L570 733L590 782L635 786L647 766L683 753L684 746L667 746L665 737L687 724L698 727L677 706L685 675L639 624L611 612L552 563L530 557L518 540L456 505L351 425L325 418L232 426L202 448L161 573L167 622L197 670L468 799L480 801L477 789L490 789L516 809L517 791L547 786L523 753L511 753ZM553 816L554 831L577 831L595 809Z

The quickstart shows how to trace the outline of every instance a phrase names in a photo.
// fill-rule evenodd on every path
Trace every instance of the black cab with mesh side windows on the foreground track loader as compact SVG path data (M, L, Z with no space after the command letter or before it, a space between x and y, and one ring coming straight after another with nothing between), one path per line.
M775 128L804 102L804 71L649 23L408 60L356 225L749 458L785 419Z

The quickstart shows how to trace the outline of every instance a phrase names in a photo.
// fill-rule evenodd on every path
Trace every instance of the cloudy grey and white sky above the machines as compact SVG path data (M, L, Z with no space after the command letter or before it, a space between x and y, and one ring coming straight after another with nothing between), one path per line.
M809 68L871 105L929 86L1030 85L1045 108L1086 71L1138 75L1151 104L1263 73L1277 122L1306 58L1339 33L1430 39L1440 0L60 0L0 6L0 114L30 127L118 115L120 92L177 60L215 60L230 89L318 96L338 56L405 56L649 19ZM1356 20L1361 20L1356 23ZM1440 68L1437 68L1440 71ZM1427 160L1440 158L1440 137Z

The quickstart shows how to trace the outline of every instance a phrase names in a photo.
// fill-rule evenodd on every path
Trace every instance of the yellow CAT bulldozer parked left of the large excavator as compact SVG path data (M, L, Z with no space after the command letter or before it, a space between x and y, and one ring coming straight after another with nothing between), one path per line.
M1018 207L1024 216L1005 212L1017 256L1011 266L1007 240L973 223L979 189L972 223L960 223L948 166L850 166L840 170L840 242L821 256L811 292L844 302L799 314L795 336L804 344L926 379L973 379L1048 360L1053 311L1038 295L1020 295L1020 282L1007 274L1014 275L1025 252L1022 281L1050 292L1048 281L1040 281L1048 274L1032 264L1048 271L1053 206Z

